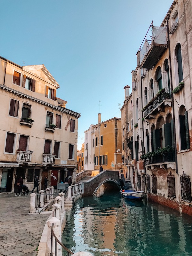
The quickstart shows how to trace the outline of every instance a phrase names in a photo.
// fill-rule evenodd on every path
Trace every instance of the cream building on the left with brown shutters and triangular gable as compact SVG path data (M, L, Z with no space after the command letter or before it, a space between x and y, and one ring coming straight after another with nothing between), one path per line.
M21 67L0 57L0 192L14 192L19 176L57 187L75 178L80 114L56 97L59 84L44 65Z

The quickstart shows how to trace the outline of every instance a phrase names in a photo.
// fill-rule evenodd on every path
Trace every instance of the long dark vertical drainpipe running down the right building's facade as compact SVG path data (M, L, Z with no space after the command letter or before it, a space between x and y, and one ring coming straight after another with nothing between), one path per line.
M171 82L171 91L173 90L173 82L172 82L172 66L171 66L171 51L170 51L170 40L169 40L169 18L167 17L167 43L168 43L168 49L169 49L169 65L170 65L170 82ZM171 99L172 99L172 109L173 109L173 138L174 138L174 151L175 151L175 168L176 173L178 173L178 163L177 163L177 144L176 144L176 131L175 131L175 111L174 111L174 98L173 93L171 93Z

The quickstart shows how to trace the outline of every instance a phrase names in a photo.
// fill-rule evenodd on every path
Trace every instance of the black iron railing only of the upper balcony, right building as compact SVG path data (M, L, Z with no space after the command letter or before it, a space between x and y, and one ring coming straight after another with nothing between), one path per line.
M171 89L170 88L163 88L142 109L142 111L144 112L144 117L151 114L156 108L161 106L161 104L164 103L164 101L167 100L167 99L171 99Z

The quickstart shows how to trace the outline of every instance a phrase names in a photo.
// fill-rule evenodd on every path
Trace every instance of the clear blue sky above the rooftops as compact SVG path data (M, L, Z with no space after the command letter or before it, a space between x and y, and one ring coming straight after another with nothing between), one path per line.
M136 53L172 0L0 0L0 55L21 66L44 64L57 97L81 114L78 149L90 124L120 117ZM25 62L25 64L23 63ZM100 101L100 106L99 106ZM83 139L83 140L82 140Z

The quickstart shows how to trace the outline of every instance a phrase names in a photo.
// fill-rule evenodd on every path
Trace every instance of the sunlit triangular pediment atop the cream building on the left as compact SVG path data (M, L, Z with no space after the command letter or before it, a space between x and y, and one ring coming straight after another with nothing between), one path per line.
M23 70L59 88L59 84L44 65L23 66Z

